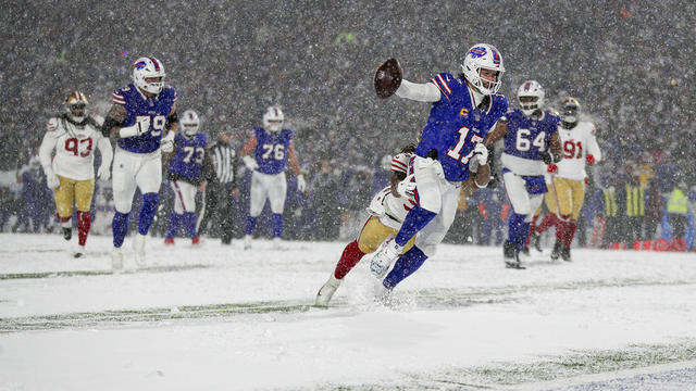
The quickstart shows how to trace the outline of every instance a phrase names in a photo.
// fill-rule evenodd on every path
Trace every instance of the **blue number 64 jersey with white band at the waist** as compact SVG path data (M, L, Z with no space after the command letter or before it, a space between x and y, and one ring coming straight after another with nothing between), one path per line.
M548 151L560 118L549 112L542 112L539 118L531 118L520 109L514 109L506 115L506 119L508 130L502 164L515 174L543 175L546 167L542 163L542 153Z

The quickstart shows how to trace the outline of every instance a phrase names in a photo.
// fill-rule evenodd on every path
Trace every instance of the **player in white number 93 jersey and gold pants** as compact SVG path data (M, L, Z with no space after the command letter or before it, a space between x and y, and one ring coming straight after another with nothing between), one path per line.
M49 188L53 189L55 211L61 223L63 238L73 236L73 203L77 210L77 247L73 256L85 255L87 235L91 226L89 206L95 193L95 146L101 153L97 176L109 180L113 151L108 138L102 137L101 118L87 114L87 98L72 91L65 99L65 112L47 124L39 148L39 160ZM51 154L55 150L55 156Z

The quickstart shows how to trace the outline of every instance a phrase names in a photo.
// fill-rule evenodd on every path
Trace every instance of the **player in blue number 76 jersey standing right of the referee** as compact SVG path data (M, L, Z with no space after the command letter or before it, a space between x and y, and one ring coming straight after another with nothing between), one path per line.
M276 249L281 245L283 210L287 192L286 163L297 176L297 189L304 191L307 187L295 152L293 130L284 128L284 122L285 115L278 106L266 109L263 113L263 127L254 127L251 137L241 148L241 161L252 172L249 214L244 237L245 250L251 248L251 236L257 226L257 217L263 211L266 199L273 214L271 217L273 245Z

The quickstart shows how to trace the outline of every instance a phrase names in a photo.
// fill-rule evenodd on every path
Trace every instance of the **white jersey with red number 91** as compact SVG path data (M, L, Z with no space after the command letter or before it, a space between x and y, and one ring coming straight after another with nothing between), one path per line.
M559 177L583 180L587 176L585 173L586 156L593 155L595 162L601 160L595 131L593 123L582 121L570 130L562 126L558 127L558 135L563 148L563 159L558 162Z

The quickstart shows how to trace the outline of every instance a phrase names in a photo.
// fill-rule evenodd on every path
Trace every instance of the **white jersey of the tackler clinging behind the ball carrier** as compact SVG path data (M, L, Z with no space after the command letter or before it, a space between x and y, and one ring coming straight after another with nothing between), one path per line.
M413 157L412 153L399 153L394 156L391 159L391 172L403 173L408 176L410 174L409 163L411 157ZM383 225L399 229L406 215L413 206L415 206L413 197L395 197L391 193L391 187L387 186L372 199L368 212L380 217L380 223Z

